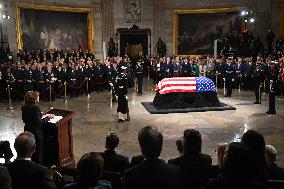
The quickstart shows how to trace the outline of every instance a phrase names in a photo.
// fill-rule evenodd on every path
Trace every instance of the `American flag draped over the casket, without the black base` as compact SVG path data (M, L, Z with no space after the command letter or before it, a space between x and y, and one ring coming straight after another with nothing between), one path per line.
M217 92L214 82L206 77L164 78L158 83L155 91L160 94Z

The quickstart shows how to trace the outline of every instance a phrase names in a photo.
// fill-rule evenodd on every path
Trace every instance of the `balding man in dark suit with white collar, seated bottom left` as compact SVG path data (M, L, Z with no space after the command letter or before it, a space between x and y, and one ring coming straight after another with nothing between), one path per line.
M11 175L13 189L56 188L47 167L31 161L36 148L32 133L24 132L17 136L14 147L17 158L5 165Z

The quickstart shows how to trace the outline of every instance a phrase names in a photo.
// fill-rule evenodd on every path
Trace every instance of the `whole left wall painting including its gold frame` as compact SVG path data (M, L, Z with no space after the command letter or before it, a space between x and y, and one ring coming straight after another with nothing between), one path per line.
M94 51L94 12L19 3L16 7L18 49L89 49Z

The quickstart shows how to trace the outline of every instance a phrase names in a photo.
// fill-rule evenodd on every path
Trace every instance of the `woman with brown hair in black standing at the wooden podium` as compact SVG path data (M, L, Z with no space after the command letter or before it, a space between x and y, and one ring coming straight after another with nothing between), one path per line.
M22 120L25 123L24 131L29 131L34 134L36 140L35 153L32 156L32 161L42 164L43 159L43 131L42 125L47 123L54 115L47 115L42 118L42 113L39 103L39 92L28 91L24 97L22 106Z

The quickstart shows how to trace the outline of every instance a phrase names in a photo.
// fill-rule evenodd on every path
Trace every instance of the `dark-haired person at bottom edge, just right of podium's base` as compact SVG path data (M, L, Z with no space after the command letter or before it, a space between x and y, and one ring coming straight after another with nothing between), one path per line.
M110 183L100 180L103 174L104 159L99 153L90 152L81 157L77 164L77 182L64 189L111 189Z

